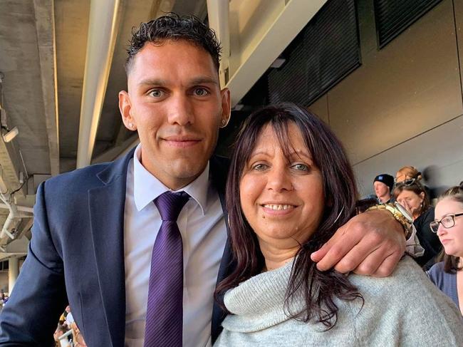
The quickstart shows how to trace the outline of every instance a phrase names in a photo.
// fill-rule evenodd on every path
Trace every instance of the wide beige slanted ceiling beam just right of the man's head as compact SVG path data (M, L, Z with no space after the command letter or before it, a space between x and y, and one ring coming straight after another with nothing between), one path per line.
M229 79L234 106L327 0L231 0Z

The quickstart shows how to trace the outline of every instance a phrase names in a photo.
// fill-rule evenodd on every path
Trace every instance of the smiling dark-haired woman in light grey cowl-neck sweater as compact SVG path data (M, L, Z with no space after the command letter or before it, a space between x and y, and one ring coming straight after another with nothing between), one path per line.
M315 115L283 104L249 116L227 183L236 268L217 288L229 314L214 346L463 346L458 310L411 259L384 279L316 268L311 253L356 197L343 147Z

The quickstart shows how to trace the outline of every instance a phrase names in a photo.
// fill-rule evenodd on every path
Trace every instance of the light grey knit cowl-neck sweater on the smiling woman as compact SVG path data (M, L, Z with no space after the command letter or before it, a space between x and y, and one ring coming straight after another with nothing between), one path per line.
M338 323L289 319L283 300L291 262L244 281L225 294L229 314L219 346L463 346L463 319L453 302L405 257L392 276L352 274L349 280L365 299L336 300ZM291 307L301 312L303 300Z

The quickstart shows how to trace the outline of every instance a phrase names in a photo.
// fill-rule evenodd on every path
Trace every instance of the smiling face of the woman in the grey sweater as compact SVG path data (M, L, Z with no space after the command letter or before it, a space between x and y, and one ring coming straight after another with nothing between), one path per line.
M320 170L293 123L289 160L274 130L267 125L241 176L239 193L244 215L261 248L298 248L320 224L325 198Z

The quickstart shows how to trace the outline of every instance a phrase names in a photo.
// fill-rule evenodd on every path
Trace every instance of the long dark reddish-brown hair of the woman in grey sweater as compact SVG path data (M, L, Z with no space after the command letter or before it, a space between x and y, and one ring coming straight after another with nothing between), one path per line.
M236 140L226 191L231 229L230 243L236 268L217 286L216 299L224 307L225 291L261 273L264 267L264 256L256 234L241 210L239 184L246 162L266 125L273 128L283 152L288 157L291 150L289 123L295 124L301 131L313 162L321 171L326 206L318 229L310 239L301 244L296 254L286 290L285 309L291 318L305 322L315 318L327 328L332 328L337 321L338 313L335 298L345 301L363 298L343 274L333 269L319 271L311 259L311 253L327 242L335 231L355 214L355 178L343 145L328 125L308 110L291 103L268 106L251 114ZM296 300L296 293L303 293L306 301L306 310L301 314L289 310L291 301Z

